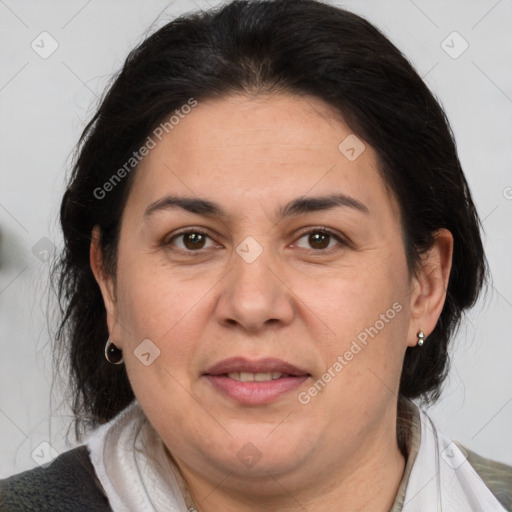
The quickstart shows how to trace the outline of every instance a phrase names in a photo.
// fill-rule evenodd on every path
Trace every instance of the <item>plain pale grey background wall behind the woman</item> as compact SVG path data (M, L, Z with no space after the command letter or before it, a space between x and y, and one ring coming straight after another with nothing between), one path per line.
M73 441L65 439L65 388L52 380L45 261L61 245L56 218L73 146L144 34L216 3L0 1L0 478ZM512 464L512 2L338 5L391 38L451 121L483 219L493 285L457 336L445 392L430 414L452 439ZM457 58L465 43L454 31L469 45ZM40 53L52 40L42 32L58 44L45 59Z

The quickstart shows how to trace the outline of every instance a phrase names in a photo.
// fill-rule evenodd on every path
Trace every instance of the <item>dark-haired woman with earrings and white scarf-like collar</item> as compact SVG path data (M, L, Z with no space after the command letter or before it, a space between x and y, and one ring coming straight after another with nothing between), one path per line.
M61 223L87 436L2 510L510 510L512 468L412 401L486 264L444 113L364 19L242 1L157 31Z

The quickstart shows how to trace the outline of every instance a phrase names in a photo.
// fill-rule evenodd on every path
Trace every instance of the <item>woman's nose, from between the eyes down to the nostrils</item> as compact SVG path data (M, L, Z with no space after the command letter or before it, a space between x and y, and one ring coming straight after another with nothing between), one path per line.
M216 304L217 319L224 326L259 332L293 320L293 293L269 252L264 250L252 262L234 254Z

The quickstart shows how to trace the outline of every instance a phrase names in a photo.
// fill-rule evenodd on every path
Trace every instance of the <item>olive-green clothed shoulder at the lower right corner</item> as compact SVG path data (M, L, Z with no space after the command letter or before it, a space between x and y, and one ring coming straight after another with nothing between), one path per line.
M496 499L506 510L512 511L512 466L487 459L460 443L456 444Z

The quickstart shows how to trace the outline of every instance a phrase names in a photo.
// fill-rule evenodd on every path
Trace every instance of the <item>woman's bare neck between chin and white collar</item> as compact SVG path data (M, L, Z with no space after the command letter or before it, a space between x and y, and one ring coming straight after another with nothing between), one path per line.
M390 425L380 429L350 461L318 471L307 478L275 478L247 490L233 473L217 482L179 464L198 512L388 512L395 500L405 468L405 457L397 442L396 409ZM328 466L326 468L326 466Z

